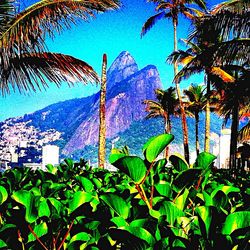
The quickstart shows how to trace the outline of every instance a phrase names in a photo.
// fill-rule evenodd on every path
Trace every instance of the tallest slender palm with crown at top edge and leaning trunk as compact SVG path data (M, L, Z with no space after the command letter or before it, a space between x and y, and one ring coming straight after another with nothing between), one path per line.
M200 8L205 9L205 2L203 0L149 0L148 2L154 2L157 4L156 11L158 12L156 15L150 17L142 27L141 35L145 35L147 31L149 31L154 24L163 18L171 19L173 23L174 29L174 51L177 51L177 26L179 20L179 14L184 15L189 19L195 19L197 15L199 15L199 11L191 8L189 4L197 4ZM178 73L178 65L174 63L174 75ZM187 121L186 121L186 114L184 110L184 105L182 103L181 98L181 91L179 87L179 82L175 81L176 85L176 92L180 103L180 110L181 110L181 119L182 119L182 128L183 128L183 145L184 145L184 154L185 159L189 162L189 147L188 147L188 129L187 129Z

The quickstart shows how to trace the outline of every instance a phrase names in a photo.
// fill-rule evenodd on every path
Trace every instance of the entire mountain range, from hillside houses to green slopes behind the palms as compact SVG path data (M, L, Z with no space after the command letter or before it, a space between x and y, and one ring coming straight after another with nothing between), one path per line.
M115 146L128 145L131 153L138 154L149 137L164 130L162 119L145 120L145 106L142 104L145 99L155 99L154 90L162 88L157 68L148 65L139 69L134 58L124 51L111 64L107 79L107 152L116 138L116 141L119 140ZM0 124L0 148L4 145L11 148L13 141L16 146L18 140L31 140L33 145L39 145L40 148L46 143L56 143L64 157L70 155L79 159L86 155L86 159L97 158L99 96L98 92L89 97L59 102L34 113L6 120ZM181 152L180 119L173 117L172 122L175 135L172 150ZM221 120L214 117L212 122L213 132L218 134ZM188 124L190 146L194 150L194 120L189 118ZM204 119L200 123L200 131L203 137ZM7 153L9 151L6 150Z

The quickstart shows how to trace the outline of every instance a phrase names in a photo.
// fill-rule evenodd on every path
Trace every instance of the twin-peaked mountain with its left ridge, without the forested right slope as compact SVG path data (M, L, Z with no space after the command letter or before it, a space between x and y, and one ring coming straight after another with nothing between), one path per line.
M154 89L162 88L162 84L155 66L148 65L139 69L127 51L120 53L111 64L107 79L107 138L113 138L129 129L133 122L145 117L142 101L154 99ZM14 126L15 134L18 134L14 135L16 138L27 140L29 137L22 134L29 127L35 128L36 138L40 138L46 131L58 131L60 138L55 137L56 143L64 155L71 155L98 141L99 95L96 93L85 98L59 102L22 117L8 119L0 124L0 132L5 131L1 127L11 125ZM17 131L20 127L22 131L19 133ZM49 143L52 142L55 141L51 139Z

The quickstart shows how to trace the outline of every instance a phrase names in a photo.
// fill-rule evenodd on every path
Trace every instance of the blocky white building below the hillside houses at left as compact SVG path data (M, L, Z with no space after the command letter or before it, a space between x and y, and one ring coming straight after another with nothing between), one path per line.
M59 164L59 147L55 145L46 145L42 150L42 168L45 169L47 164Z

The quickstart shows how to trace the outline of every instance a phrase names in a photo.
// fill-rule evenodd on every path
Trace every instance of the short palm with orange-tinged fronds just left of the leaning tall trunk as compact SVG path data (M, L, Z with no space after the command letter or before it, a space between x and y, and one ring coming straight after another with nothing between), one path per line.
M167 90L156 89L155 95L157 101L144 100L146 111L148 112L146 119L163 117L164 131L167 134L171 133L171 115L178 115L178 99L176 98L175 88L170 87ZM168 157L168 148L165 151L166 158Z

